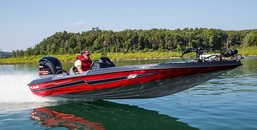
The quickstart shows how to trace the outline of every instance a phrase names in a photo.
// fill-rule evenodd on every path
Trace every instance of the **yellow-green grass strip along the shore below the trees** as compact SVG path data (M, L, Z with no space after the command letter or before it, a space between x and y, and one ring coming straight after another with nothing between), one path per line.
M247 47L245 49L237 49L239 54L242 56L257 56L257 48ZM76 57L80 54L64 54L64 55L38 55L29 57L17 57L17 58L7 58L0 59L0 65L8 64L32 64L37 63L38 60L45 56L53 56L58 58L61 62L74 62ZM92 60L97 60L100 57L100 53L92 53L90 58ZM181 53L178 52L138 52L138 53L107 53L107 57L111 60L140 60L140 59L167 59L167 58L180 58ZM195 53L185 54L184 58L193 58Z

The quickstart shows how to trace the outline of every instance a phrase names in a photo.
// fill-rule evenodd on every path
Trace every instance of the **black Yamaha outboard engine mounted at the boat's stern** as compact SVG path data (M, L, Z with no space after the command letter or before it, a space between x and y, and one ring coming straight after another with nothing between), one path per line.
M46 77L55 75L56 72L62 70L62 64L56 57L46 56L38 61L39 63L39 77Z

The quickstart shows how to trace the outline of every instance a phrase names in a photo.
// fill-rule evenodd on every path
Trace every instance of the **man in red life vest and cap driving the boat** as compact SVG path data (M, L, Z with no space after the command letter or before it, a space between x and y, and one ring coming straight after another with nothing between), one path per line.
M90 52L88 50L84 50L79 56L77 56L76 61L74 63L77 72L90 70L92 60L89 56Z

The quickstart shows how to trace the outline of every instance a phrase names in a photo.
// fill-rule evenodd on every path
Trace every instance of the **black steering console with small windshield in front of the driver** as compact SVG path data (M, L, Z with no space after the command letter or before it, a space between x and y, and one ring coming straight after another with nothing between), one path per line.
M92 63L92 69L100 69L100 68L107 68L107 67L116 67L116 66L110 60L110 58L107 57L106 53L101 54L101 57L99 58L99 60L95 60Z

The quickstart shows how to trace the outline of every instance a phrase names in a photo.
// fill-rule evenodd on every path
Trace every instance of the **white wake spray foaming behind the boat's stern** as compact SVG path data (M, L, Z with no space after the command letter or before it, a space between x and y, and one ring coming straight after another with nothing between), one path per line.
M65 101L64 98L44 98L31 93L28 83L38 78L36 74L0 73L0 103L42 103Z

